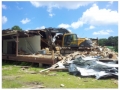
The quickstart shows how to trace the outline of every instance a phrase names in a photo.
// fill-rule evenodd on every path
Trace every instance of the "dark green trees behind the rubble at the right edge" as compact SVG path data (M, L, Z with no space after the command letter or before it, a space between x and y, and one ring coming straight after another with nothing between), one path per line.
M100 46L113 46L115 51L118 51L118 36L110 36L108 39L99 39Z

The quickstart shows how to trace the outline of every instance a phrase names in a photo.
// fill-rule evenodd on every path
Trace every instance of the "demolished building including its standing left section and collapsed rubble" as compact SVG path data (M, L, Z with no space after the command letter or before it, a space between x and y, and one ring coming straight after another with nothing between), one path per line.
M52 32L52 37L55 33ZM69 72L81 73L81 76L118 76L118 53L98 46L91 51L75 51L62 55L59 49L49 51L49 40L44 30L2 30L2 60L25 61L50 64L51 69L67 69ZM45 70L43 70L45 71ZM42 71L41 71L42 72Z

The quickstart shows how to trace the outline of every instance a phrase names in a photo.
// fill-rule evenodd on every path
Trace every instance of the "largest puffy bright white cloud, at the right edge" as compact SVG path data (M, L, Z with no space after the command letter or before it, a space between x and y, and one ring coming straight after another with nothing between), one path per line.
M111 9L99 9L96 4L87 9L80 18L86 24L111 25L118 24L118 12Z

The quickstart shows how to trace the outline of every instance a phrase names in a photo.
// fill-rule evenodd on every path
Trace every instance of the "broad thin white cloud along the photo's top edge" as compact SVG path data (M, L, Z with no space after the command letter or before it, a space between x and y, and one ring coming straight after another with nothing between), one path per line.
M54 8L66 8L66 9L78 9L81 6L86 6L90 3L93 3L91 1L31 1L30 2L33 6L36 8L39 7L47 7L47 11L50 13L49 16L53 16L52 10Z

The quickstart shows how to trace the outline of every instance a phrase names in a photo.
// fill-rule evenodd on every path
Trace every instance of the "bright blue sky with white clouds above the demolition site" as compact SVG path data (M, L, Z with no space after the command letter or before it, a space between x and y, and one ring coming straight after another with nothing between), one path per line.
M118 36L117 1L2 1L2 29L64 27L79 37Z

